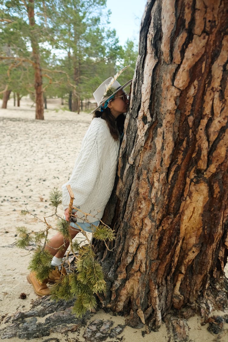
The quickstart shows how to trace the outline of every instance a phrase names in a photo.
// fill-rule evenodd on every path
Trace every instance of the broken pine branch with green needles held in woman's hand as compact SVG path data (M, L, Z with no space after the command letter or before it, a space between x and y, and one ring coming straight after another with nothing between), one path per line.
M79 208L73 207L73 192L70 186L67 186L68 192L70 194L69 203L69 217L70 220L74 220L77 225L77 215L73 214L75 211L80 211ZM79 226L79 230L84 235L84 238L78 242L78 239L72 242L71 235L69 234L70 222L64 220L57 214L57 208L62 203L62 193L57 188L54 188L50 192L50 205L54 207L54 213L48 217L55 216L57 219L56 228L53 228L45 217L43 220L39 219L36 215L32 214L30 211L23 210L22 215L30 214L36 219L40 220L45 225L45 230L40 232L29 232L26 227L18 227L18 239L17 247L25 248L31 242L37 245L36 250L33 252L32 258L29 263L29 269L36 272L36 277L42 282L47 279L49 273L51 272L51 261L53 256L49 251L45 250L46 242L48 242L48 234L50 229L55 229L60 232L64 237L64 243L59 248L56 248L56 253L65 247L67 241L70 245L68 251L66 252L65 262L68 264L68 272L66 275L62 274L61 278L52 285L51 297L53 300L65 300L69 301L75 298L75 305L73 306L72 312L76 314L77 317L82 317L86 311L91 311L96 306L96 299L94 294L98 292L106 291L106 282L104 279L104 274L102 266L96 261L96 255L93 251L92 239L90 240L85 231ZM83 213L84 222L90 222L88 216L95 216ZM92 234L97 240L103 240L105 246L108 249L106 241L112 241L115 239L115 234L110 227L108 227L104 222L100 220L98 227L95 227L96 231ZM82 243L87 241L87 245L82 246ZM72 253L75 257L75 265L72 267L69 261L69 254Z

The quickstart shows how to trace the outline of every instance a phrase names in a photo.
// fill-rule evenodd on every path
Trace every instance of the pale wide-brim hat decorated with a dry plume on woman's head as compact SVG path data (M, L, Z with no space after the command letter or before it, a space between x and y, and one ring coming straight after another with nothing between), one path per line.
M97 109L100 108L100 106L105 103L110 97L115 95L119 90L122 90L129 86L129 84L132 82L132 80L126 82L123 86L116 80L112 83L112 88L116 89L111 95L104 97L104 94L106 93L107 86L110 84L110 82L113 80L113 77L107 78L100 86L95 90L93 93L93 97L95 98L95 101L97 103L97 107L91 111L90 114L94 113Z

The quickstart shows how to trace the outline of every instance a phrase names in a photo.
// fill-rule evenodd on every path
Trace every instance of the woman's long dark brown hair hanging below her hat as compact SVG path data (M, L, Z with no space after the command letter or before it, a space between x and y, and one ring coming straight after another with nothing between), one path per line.
M123 124L125 115L120 114L117 119L111 114L110 108L105 108L103 111L96 110L93 118L102 118L107 122L109 131L114 140L118 140L123 133Z

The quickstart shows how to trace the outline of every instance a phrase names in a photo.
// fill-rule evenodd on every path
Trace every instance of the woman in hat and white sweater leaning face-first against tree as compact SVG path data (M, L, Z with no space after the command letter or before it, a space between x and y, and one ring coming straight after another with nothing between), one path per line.
M93 93L98 106L93 111L93 120L86 132L80 153L76 159L72 175L69 181L63 185L63 207L65 219L69 221L68 206L70 196L66 188L70 184L75 199L73 206L79 208L77 211L77 225L86 232L93 232L102 218L105 206L111 195L115 181L119 145L121 134L123 133L123 118L121 115L126 113L129 105L128 96L123 89L132 80L121 87L120 83L114 78L109 77ZM100 111L97 109L100 108ZM92 113L93 113L92 112ZM84 213L89 222L84 222ZM70 235L73 239L80 229L73 222L70 223ZM28 276L28 282L32 284L34 291L38 295L48 295L50 290L47 282L55 282L60 278L61 272L66 274L62 268L62 258L69 246L69 241L65 242L65 247L58 250L64 244L61 233L55 234L45 249L53 255L51 262L53 271L49 274L49 279L41 283L35 272ZM56 252L57 251L57 252Z

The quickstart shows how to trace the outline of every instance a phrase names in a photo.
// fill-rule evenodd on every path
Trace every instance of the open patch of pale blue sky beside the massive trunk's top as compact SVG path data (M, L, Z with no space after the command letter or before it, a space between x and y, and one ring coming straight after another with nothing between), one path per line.
M140 22L143 16L146 0L107 0L110 9L110 28L115 28L120 44L127 39L138 44Z

